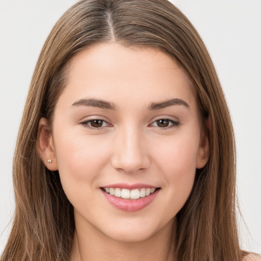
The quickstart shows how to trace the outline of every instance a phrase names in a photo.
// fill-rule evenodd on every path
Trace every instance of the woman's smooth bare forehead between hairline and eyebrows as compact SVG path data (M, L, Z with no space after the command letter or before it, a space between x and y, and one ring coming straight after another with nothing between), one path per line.
M171 98L195 97L186 71L157 48L101 43L76 54L68 64L67 85L59 98L67 106L81 98L98 98L133 106ZM58 103L59 103L58 100Z

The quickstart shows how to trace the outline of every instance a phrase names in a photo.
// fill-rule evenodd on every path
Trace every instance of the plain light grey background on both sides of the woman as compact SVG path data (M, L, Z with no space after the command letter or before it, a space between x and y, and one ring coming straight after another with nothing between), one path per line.
M12 157L34 66L75 0L0 0L0 253L14 209ZM216 65L234 123L242 247L261 252L261 1L173 0Z

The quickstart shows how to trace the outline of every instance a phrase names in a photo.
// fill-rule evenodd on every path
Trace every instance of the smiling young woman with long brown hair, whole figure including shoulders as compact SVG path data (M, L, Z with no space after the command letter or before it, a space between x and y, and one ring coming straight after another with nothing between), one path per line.
M240 250L231 120L167 1L81 1L40 54L2 260L257 260Z

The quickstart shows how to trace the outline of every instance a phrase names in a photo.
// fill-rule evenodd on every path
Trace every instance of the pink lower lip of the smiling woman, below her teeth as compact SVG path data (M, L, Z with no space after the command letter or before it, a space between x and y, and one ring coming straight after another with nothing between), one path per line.
M159 189L156 190L154 193L150 194L149 196L138 198L138 199L124 199L121 197L115 197L107 192L101 190L105 198L111 203L113 206L117 207L119 210L122 211L139 211L142 210L142 208L146 207L148 204L150 204L158 195Z

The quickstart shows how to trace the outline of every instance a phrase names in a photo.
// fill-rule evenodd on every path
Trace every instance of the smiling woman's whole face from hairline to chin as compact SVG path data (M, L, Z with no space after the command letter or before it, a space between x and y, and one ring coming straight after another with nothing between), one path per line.
M171 57L98 44L70 61L46 165L59 169L76 228L140 241L171 230L204 165L201 136L191 83Z

